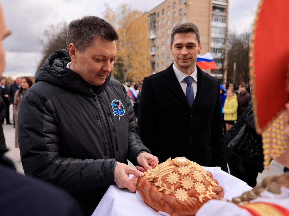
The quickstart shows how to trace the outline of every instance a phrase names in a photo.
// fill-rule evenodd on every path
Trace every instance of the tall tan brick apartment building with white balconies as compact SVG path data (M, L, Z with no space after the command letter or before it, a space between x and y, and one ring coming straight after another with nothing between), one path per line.
M216 62L217 70L206 72L223 79L221 69L227 49L227 8L227 0L166 0L149 11L147 16L152 71L160 72L174 62L169 49L172 29L176 24L188 21L194 23L200 31L200 55L211 52Z

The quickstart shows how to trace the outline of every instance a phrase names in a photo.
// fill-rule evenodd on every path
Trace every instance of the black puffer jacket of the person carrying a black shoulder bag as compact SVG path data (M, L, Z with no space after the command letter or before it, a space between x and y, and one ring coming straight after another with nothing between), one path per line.
M247 125L246 125L247 124ZM241 143L238 146L238 142L242 138L242 134L239 133L243 127L247 127L247 140L246 143ZM245 128L243 128L245 129ZM252 102L249 101L249 106L246 108L240 119L233 125L233 127L227 131L225 137L225 153L227 162L239 167L239 170L243 173L247 167L254 166L262 172L263 170L263 149L262 149L262 137L255 131L254 113L252 110ZM251 146L249 145L251 144ZM238 152L238 149L241 152ZM253 151L254 150L254 151ZM235 152L236 154L234 154ZM247 160L249 158L249 160Z

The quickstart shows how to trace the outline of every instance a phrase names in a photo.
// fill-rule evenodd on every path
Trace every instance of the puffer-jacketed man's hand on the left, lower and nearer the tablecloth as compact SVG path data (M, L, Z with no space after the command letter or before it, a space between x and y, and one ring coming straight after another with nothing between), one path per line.
M117 162L117 166L114 170L114 182L117 183L119 188L127 188L130 192L134 193L137 190L136 183L138 177L144 176L144 173L133 169L132 167ZM129 174L133 174L132 179L129 178Z

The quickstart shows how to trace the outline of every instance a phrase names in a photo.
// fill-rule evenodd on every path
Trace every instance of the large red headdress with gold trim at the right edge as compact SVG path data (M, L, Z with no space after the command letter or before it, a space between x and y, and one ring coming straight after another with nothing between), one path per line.
M250 46L250 80L256 130L287 102L289 1L260 1Z

